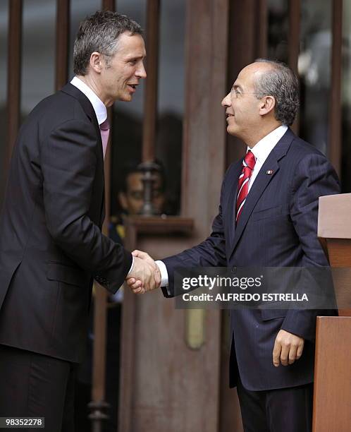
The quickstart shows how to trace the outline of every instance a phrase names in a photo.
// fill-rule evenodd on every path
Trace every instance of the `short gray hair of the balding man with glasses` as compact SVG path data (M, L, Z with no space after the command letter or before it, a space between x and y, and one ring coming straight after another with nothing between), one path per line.
M286 126L295 120L299 101L299 81L295 73L281 61L257 59L255 63L268 63L271 69L261 73L254 83L257 97L273 96L276 100L274 116Z

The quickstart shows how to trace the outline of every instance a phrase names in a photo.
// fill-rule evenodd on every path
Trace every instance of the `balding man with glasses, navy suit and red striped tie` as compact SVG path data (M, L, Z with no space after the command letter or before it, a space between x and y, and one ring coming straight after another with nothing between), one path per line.
M242 69L222 101L227 131L247 154L223 180L211 235L157 262L166 297L176 267L323 267L317 239L319 196L339 193L326 157L288 126L298 107L298 83L283 64L259 59ZM152 262L146 253L135 256ZM130 287L144 287L130 278ZM230 386L237 386L246 432L312 429L316 316L334 310L231 311Z

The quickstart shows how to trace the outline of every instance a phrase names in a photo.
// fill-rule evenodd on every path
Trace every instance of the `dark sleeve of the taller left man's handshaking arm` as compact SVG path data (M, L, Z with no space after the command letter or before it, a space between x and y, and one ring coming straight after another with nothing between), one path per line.
M97 138L91 124L61 124L41 147L47 228L54 242L109 291L116 292L132 265L123 246L101 233L87 212L97 165Z

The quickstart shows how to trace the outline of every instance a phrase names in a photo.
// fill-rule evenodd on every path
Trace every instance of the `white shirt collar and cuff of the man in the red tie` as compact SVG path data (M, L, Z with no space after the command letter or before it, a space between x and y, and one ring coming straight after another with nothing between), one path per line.
M250 188L252 188L252 184L254 184L254 179L256 179L257 174L259 174L259 170L261 169L264 162L266 162L269 153L278 144L278 141L282 138L282 136L287 130L288 126L279 126L278 128L274 129L274 131L271 131L268 135L259 140L259 142L254 145L254 147L247 147L247 151L251 150L252 153L254 153L254 157L256 158L256 164L254 165L254 169L252 170L252 174L249 180L249 193ZM161 272L161 287L167 287L168 272L166 264L163 261L156 261L156 264L159 266Z

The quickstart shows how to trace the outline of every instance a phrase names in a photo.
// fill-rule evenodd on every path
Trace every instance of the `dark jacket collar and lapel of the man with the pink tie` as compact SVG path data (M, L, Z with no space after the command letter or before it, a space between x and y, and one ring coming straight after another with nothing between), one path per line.
M104 153L102 151L101 132L100 132L99 123L97 121L97 115L94 112L94 108L90 100L87 98L87 96L85 96L83 92L81 92L78 88L76 88L75 85L68 83L61 89L61 91L66 93L67 95L75 97L75 99L77 99L78 102L80 102L80 104L82 105L82 109L84 110L85 114L87 114L87 116L89 117L97 133L97 162L99 168L101 169L101 174L102 174L102 179L101 179L102 200L101 200L101 207L100 207L100 227L101 227L105 217L105 174L104 174Z

